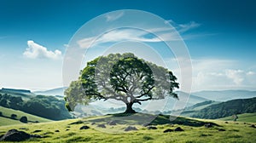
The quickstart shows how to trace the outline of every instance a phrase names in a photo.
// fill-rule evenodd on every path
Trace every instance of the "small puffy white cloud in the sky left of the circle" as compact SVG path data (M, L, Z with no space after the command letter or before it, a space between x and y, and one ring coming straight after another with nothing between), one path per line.
M27 41L28 48L23 53L24 56L31 59L46 58L46 59L60 59L61 51L56 49L54 52L48 50L38 43L34 43L32 40Z

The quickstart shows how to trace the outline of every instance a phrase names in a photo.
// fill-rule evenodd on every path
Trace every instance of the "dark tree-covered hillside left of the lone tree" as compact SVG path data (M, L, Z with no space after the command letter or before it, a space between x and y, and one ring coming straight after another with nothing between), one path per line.
M20 96L0 94L0 106L52 120L71 118L65 108L65 101L58 100L54 96L37 95L30 100L22 100ZM15 115L12 118L16 118Z

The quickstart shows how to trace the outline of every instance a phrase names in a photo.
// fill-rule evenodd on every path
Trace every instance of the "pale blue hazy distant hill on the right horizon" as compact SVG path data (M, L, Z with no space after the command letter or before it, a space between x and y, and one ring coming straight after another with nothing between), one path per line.
M198 97L208 100L227 101L236 99L247 99L256 97L256 91L249 90L219 90L219 91L200 91L194 92Z

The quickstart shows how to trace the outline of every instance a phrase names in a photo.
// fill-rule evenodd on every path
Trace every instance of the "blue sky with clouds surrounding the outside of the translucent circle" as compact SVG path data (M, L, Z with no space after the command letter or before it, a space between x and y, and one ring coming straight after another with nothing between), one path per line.
M159 15L180 30L192 59L193 90L256 90L253 0L150 3L2 0L0 3L0 87L61 87L65 45L75 32L98 15L138 9ZM29 47L41 50L31 54L26 51Z

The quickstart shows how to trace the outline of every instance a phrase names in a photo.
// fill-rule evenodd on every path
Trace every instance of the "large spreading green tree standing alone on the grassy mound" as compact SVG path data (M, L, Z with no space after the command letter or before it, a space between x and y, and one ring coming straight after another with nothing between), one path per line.
M173 89L177 78L166 68L137 58L134 54L108 54L87 63L79 80L65 90L66 107L71 112L78 104L96 100L120 100L125 113L135 113L132 105L166 96L177 99Z

